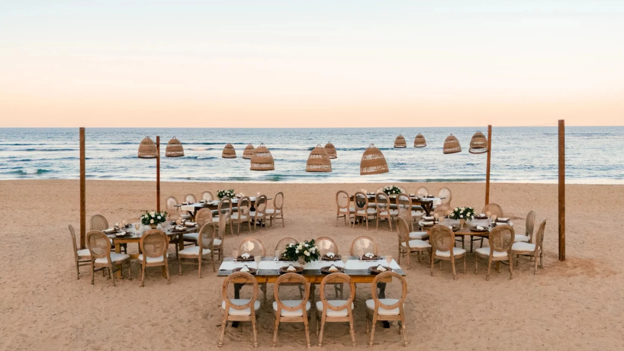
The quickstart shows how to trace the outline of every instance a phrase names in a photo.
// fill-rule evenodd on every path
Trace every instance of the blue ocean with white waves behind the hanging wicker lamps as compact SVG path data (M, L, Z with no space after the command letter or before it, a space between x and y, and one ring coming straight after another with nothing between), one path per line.
M468 152L470 138L487 127L449 128L87 128L87 178L154 180L155 160L137 158L146 135L161 138L163 181L281 181L288 183L356 183L392 181L485 181L485 154ZM414 148L422 133L427 147ZM455 135L462 152L444 155L444 139ZM407 148L394 148L402 134ZM165 158L172 137L185 156ZM241 158L248 143L265 143L274 171L251 171ZM332 142L338 158L331 173L305 171L317 144ZM225 144L235 159L221 158ZM386 157L389 173L359 175L362 153L374 143ZM624 127L567 127L567 183L624 184ZM0 180L77 179L78 128L0 128ZM511 183L556 183L557 127L493 127L491 180Z

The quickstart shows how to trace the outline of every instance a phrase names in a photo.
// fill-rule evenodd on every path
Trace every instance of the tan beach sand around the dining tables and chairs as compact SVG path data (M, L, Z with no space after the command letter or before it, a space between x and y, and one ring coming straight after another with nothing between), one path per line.
M349 193L381 186L364 184L281 183L163 183L162 201L169 195L179 199L187 193L234 188L238 193L256 191L274 196L285 193L285 228L259 229L272 255L279 238L297 239L326 235L336 239L339 253L347 253L359 235L372 236L381 254L397 255L397 234L381 223L356 229L342 219L336 224L335 193ZM406 184L409 192L423 184ZM483 183L427 183L429 191L448 186L452 204L484 205ZM409 350L496 349L580 350L624 349L624 279L617 259L623 252L622 208L624 186L567 186L567 261L557 261L557 185L492 184L490 201L498 203L512 218L517 233L524 233L524 219L537 213L535 227L545 218L544 269L533 274L533 264L523 260L509 279L507 266L492 272L485 281L485 266L474 274L474 259L468 260L466 275L453 281L451 267L443 271L412 259L407 272L406 300ZM77 180L0 181L0 349L3 350L190 350L217 349L221 329L220 304L223 278L210 264L202 269L183 267L170 248L171 284L159 269L149 269L145 287L139 287L138 262L132 263L134 279L112 286L102 274L90 284L88 267L76 279L67 224L79 233L79 182ZM154 209L155 183L142 181L87 181L87 218L103 214L109 223L136 219L142 209ZM87 228L88 229L88 228ZM229 229L228 229L229 232ZM225 240L231 256L248 232ZM129 251L137 251L130 246ZM218 263L217 263L218 266ZM403 262L402 266L406 269ZM458 264L461 272L461 264ZM124 276L127 271L124 272ZM394 289L394 287L392 287ZM389 295L396 290L389 289ZM269 296L273 294L269 286ZM318 294L318 289L317 289ZM355 330L358 349L368 343L365 334L364 301L370 286L357 288ZM318 296L317 296L318 299ZM272 299L269 300L270 302ZM263 306L258 320L258 349L269 349L273 337L273 310ZM316 322L311 321L311 331ZM311 343L317 337L311 332ZM251 329L228 328L224 350L253 349ZM278 349L305 347L302 324L287 324L280 330ZM351 349L348 326L328 324L324 349ZM396 324L378 327L373 350L402 349ZM406 349L407 350L407 349Z

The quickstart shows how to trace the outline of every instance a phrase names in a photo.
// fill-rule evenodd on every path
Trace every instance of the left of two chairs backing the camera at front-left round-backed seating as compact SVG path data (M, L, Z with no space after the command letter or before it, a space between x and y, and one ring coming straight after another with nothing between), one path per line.
M128 264L128 279L132 280L132 271L130 270L130 256L127 254L117 254L110 252L110 240L106 234L101 231L92 230L87 233L87 247L91 254L91 284L94 284L95 271L107 270L109 278L112 278L113 286L115 286L114 272L121 271L123 264ZM113 268L113 265L118 266ZM104 272L102 272L104 273Z

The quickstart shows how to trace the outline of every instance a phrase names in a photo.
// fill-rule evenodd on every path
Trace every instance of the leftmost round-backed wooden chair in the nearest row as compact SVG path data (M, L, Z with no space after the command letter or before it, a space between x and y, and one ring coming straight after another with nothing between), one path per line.
M228 296L228 286L230 284L246 284L253 287L253 295L251 299L230 299ZM225 329L228 322L251 322L253 329L253 347L258 347L258 331L256 330L256 313L260 310L260 301L258 301L258 281L247 272L235 272L230 274L223 281L223 289L221 292L223 302L221 303L221 337L219 338L218 347L223 346L223 337L225 337Z

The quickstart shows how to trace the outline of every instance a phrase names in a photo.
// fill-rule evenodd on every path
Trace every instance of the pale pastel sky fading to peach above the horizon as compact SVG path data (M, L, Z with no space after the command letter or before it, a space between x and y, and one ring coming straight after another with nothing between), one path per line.
M0 127L624 124L624 1L2 1Z

